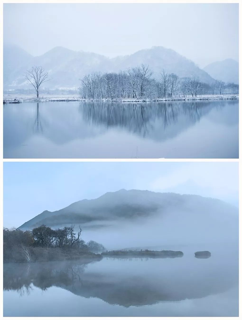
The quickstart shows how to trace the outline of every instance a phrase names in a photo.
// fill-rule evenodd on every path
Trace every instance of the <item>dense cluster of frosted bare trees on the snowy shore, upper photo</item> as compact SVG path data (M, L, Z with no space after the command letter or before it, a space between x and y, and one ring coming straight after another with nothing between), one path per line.
M174 73L163 70L159 80L151 78L153 71L141 64L119 73L93 72L79 79L80 97L83 99L142 99L168 98L173 96L197 96L203 92L198 77L180 79Z

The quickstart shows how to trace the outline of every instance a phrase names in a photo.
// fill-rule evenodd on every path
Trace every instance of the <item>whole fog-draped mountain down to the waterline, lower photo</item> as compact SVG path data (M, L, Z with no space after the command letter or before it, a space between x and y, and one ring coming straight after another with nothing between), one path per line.
M238 209L218 199L147 190L108 192L55 212L44 211L20 229L79 224L87 239L110 247L230 241L238 237ZM145 236L144 236L145 235Z

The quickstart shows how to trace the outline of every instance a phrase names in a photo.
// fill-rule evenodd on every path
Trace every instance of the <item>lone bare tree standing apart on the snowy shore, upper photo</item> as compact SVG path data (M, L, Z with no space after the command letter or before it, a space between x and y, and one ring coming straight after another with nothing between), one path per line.
M48 72L44 72L42 67L34 66L31 70L27 70L24 74L25 79L29 81L29 84L35 88L37 98L39 97L39 88L41 84L46 81L50 81L48 78Z

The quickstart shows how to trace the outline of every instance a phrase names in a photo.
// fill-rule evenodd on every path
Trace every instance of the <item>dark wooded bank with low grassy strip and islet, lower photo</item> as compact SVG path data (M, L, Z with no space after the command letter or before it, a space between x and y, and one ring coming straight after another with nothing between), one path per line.
M77 231L75 231L77 230ZM23 231L20 228L3 229L3 262L47 262L82 260L87 263L103 258L181 258L182 251L120 249L108 251L93 240L81 239L82 229L69 227L53 230L46 225ZM209 251L197 251L195 257L206 259Z

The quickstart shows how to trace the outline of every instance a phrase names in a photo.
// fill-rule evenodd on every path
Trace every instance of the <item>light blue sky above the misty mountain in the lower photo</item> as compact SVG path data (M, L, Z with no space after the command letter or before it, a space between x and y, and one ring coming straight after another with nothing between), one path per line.
M197 194L238 206L238 163L5 162L4 227L122 188Z

